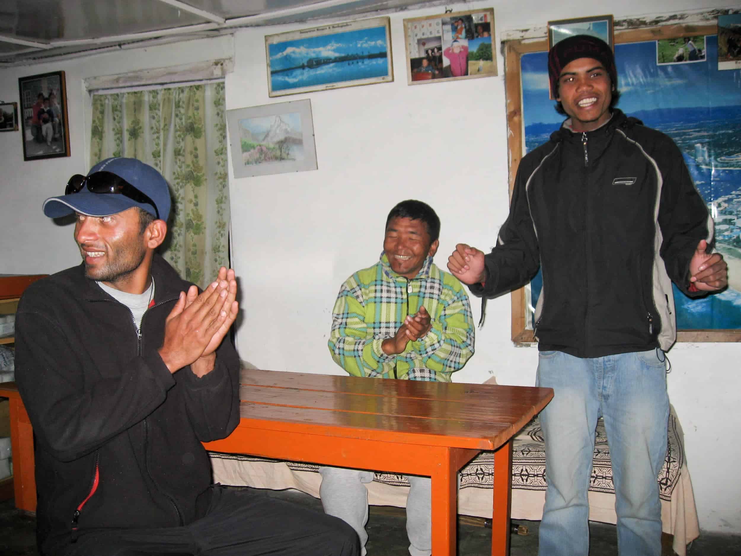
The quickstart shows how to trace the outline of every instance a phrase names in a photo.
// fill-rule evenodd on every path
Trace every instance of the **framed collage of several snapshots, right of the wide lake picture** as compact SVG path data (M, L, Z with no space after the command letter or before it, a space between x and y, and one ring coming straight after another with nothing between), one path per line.
M404 20L407 83L496 76L494 8Z

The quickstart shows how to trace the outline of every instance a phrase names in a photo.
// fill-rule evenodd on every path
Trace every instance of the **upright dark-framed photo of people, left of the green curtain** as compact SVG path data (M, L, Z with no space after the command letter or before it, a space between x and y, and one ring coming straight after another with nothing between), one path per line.
M21 77L18 87L21 95L23 159L70 156L64 72Z

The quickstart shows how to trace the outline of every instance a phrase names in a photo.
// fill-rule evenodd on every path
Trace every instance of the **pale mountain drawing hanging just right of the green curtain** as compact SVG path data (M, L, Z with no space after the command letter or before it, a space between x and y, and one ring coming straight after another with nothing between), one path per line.
M227 110L235 178L316 170L310 100Z

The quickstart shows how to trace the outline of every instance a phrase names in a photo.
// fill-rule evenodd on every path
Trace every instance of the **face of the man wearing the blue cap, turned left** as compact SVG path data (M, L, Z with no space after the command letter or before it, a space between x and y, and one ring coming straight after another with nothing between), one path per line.
M147 239L140 222L136 207L110 216L77 214L75 241L88 278L128 291L128 285L141 278L139 274L148 275L148 265L142 264L147 256Z

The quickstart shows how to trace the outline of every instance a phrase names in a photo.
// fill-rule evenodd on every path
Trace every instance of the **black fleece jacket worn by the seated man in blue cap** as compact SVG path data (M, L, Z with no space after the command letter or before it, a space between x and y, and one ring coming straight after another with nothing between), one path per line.
M59 554L90 529L169 527L205 515L202 441L239 422L239 360L170 374L157 349L190 286L155 256L155 305L136 332L130 310L68 268L33 283L16 313L16 380L36 434L39 548Z

